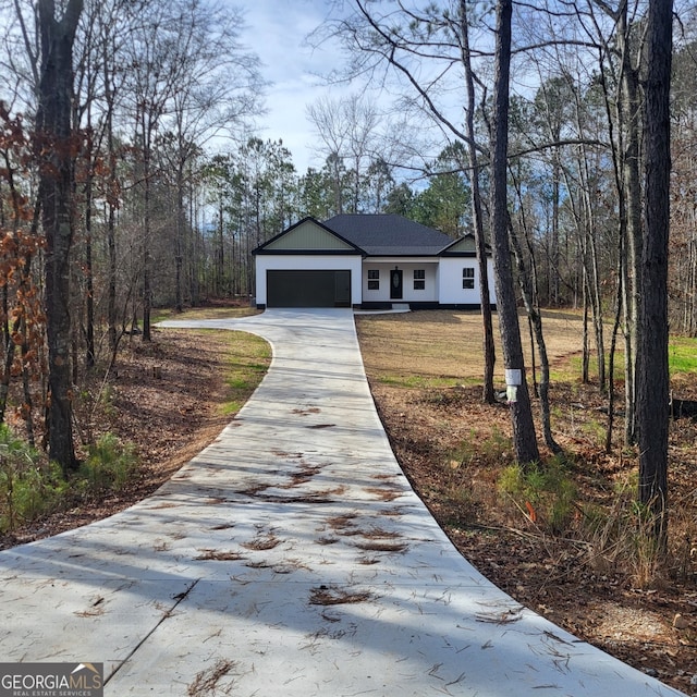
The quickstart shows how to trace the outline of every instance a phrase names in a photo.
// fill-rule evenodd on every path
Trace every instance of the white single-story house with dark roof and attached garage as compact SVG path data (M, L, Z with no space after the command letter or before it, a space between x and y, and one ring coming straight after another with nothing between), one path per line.
M481 305L474 235L453 240L402 216L305 218L253 254L259 308Z

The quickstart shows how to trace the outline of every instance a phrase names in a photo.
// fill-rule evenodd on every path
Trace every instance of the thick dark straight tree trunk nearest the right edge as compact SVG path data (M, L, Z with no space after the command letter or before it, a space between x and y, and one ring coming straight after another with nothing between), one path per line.
M646 163L643 292L637 364L636 418L639 498L653 517L660 545L668 542L668 242L670 230L670 83L672 0L650 0L647 26Z

